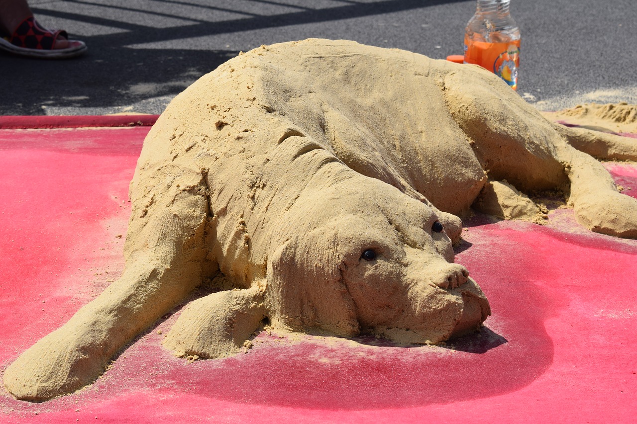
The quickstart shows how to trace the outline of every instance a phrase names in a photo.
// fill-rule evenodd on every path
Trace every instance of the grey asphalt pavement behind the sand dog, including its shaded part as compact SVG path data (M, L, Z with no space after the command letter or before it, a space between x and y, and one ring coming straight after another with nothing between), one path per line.
M0 115L161 113L219 64L263 44L352 39L434 59L462 53L475 0L32 0L89 45L71 60L0 53ZM637 103L634 0L512 0L519 93L542 110Z

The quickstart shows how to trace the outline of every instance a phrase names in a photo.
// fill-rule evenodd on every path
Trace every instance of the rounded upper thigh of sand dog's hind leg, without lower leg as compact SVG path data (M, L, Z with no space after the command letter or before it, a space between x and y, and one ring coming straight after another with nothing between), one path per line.
M553 124L489 71L453 69L440 80L441 90L489 180L506 180L522 192L568 185L555 157L555 141L566 140Z

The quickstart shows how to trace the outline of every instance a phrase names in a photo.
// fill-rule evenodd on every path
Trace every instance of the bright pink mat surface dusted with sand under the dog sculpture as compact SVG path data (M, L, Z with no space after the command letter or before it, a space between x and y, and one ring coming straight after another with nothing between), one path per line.
M147 132L0 131L0 372L122 271ZM637 166L607 167L637 197ZM161 346L176 313L80 392L31 404L1 388L0 422L632 422L637 241L569 209L545 226L477 216L463 237L457 262L493 314L447 348L261 334L189 363Z

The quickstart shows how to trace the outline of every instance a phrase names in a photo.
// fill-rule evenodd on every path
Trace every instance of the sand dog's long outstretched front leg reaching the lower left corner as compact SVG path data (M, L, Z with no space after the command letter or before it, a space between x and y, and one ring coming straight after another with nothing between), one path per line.
M6 369L12 395L40 401L89 384L126 343L201 283L206 182L199 171L178 168L142 171L145 185L131 190L122 276Z

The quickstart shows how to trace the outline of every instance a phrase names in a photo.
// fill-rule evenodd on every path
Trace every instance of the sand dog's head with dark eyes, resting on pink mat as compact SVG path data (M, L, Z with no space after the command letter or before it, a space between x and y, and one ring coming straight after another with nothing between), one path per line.
M287 241L269 265L273 325L438 343L478 329L490 314L467 269L454 264L432 208L362 176L318 199L299 202L313 229ZM319 223L318 211L331 218Z

